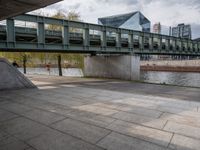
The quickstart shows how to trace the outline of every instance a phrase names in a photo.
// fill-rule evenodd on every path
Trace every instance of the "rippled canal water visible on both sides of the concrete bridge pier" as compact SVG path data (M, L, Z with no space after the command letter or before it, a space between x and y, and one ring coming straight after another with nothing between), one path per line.
M23 72L22 68L19 70ZM62 69L62 72L63 76L83 77L83 71L78 68ZM46 68L27 68L27 74L58 75L58 69L51 68L47 71ZM140 80L149 83L200 87L200 73L142 71Z

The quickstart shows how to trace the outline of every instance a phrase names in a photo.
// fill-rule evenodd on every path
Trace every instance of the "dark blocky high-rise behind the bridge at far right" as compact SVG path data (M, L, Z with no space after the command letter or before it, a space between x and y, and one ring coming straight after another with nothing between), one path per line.
M192 38L192 31L190 25L179 24L177 27L172 28L172 36L181 37L185 39Z

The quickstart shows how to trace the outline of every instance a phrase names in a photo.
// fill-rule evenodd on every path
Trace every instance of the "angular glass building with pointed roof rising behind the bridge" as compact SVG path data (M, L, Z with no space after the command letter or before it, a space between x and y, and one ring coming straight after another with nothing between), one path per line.
M139 11L98 19L98 24L150 32L151 22Z

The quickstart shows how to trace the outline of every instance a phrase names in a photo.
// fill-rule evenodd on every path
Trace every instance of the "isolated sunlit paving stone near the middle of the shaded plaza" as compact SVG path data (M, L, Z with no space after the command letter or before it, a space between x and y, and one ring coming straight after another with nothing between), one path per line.
M117 113L117 110L113 110L113 109L108 109L108 108L102 108L102 107L98 107L95 105L83 105L83 106L79 106L79 107L73 107L74 109L77 110L81 110L81 111L86 111L86 112L92 112L94 114L100 114L100 115L113 115L115 113Z

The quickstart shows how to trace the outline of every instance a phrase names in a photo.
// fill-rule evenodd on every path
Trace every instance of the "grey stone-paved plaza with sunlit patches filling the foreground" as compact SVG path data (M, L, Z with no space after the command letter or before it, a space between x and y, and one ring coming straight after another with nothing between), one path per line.
M0 150L200 150L200 89L29 76L0 91Z

